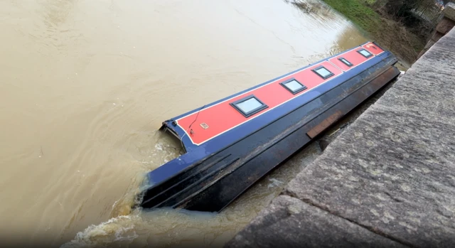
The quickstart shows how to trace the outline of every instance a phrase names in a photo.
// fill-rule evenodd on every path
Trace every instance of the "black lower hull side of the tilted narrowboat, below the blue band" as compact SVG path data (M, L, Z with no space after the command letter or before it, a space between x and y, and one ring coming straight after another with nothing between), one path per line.
M144 193L141 207L219 212L233 200L393 80L390 54L338 87L250 136L214 153Z

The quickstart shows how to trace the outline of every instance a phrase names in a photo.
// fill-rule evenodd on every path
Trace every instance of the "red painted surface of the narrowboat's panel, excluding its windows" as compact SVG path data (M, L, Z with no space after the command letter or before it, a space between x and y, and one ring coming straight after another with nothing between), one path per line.
M382 53L382 52L378 53L377 50L373 51L373 49L367 48L365 46L364 48L375 55ZM193 141L194 144L202 144L203 142L208 141L209 139L212 139L213 137L218 136L219 134L222 134L223 132L228 131L229 129L232 129L235 126L242 124L243 122L247 122L248 120L255 118L259 114L264 114L270 109L277 107L278 105L283 104L284 102L287 102L298 95L308 92L314 87L321 85L323 82L326 82L328 80L333 79L334 77L337 77L338 75L341 75L343 72L340 69L345 71L350 70L354 68L356 65L359 65L360 63L363 63L366 60L373 58L373 56L368 59L363 57L363 55L357 53L358 49L360 48L351 50L342 55L338 55L336 56L336 58L331 58L329 60L330 62L323 61L322 63L311 66L310 68L306 68L304 70L296 72L293 75L283 77L267 85L258 87L250 92L238 95L237 97L232 97L231 99L228 99L225 102L220 102L219 104L215 104L206 109L202 109L199 113L195 112L193 114L189 114L186 117L178 119L177 120L178 125L181 126L182 129L186 130L186 134L190 136L191 141ZM380 48L378 48L378 50L379 49ZM338 58L341 57L346 58L346 60L348 60L350 63L353 63L353 66L349 68L347 65L341 63L341 61L338 60ZM335 75L329 77L326 80L323 80L322 77L316 75L315 72L311 71L311 69L314 69L321 65L323 65L325 68L333 72ZM293 95L291 92L289 92L287 89L285 89L282 85L279 84L280 82L286 81L292 77L294 77L299 82L303 83L307 87L307 89L304 90L303 92L299 92L298 94ZM267 104L268 108L250 117L244 117L242 114L240 114L240 112L237 111L237 109L234 109L230 105L231 102L235 102L236 100L242 99L243 97L247 97L249 95L255 95L255 97L264 102L264 104ZM200 126L200 124L202 123L207 124L208 129L203 129L203 127ZM190 125L191 128L189 128Z

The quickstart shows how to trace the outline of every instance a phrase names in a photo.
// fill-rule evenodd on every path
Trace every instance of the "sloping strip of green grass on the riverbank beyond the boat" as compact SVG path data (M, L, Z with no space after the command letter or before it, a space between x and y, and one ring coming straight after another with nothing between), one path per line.
M400 22L392 21L387 16L381 16L374 11L370 4L375 0L323 0L333 9L340 12L353 23L363 28L370 36L385 48L388 48L405 60L414 62L419 52L424 48L424 38L408 31Z

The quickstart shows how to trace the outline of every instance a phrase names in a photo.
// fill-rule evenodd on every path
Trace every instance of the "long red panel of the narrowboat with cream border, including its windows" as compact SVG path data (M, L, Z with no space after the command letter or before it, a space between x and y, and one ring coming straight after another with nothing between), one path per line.
M203 144L270 109L309 92L383 52L384 50L378 45L366 43L279 80L205 107L199 112L188 114L177 119L176 124L185 130L185 135L188 135L193 144Z

